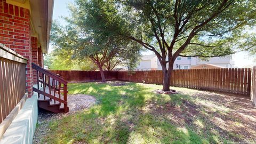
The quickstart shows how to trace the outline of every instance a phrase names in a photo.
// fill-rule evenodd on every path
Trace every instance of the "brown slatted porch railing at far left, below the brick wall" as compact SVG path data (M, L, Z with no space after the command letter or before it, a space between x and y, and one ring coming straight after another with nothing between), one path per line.
M26 94L27 59L0 44L0 123Z

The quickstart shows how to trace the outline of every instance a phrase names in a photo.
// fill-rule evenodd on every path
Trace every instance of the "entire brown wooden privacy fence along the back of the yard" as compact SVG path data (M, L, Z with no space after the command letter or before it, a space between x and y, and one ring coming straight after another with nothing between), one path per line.
M99 71L52 70L68 82L101 81ZM163 84L162 70L104 71L107 81L129 81L147 84ZM250 68L186 69L172 70L171 86L212 91L250 94Z

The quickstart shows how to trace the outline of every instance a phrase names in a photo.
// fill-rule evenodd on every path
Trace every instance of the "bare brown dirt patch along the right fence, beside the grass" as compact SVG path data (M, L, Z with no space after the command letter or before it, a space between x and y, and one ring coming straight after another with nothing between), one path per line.
M184 93L184 92L179 92ZM235 142L256 138L256 108L249 97L229 93L196 91L186 93L181 105L147 103L150 113L169 119L178 127L193 127L198 133L221 135Z

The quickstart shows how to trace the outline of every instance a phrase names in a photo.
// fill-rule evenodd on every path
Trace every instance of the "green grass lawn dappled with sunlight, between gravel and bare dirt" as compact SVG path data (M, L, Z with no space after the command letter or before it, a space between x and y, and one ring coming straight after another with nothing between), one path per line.
M196 90L175 87L187 94L155 94L161 85L127 83L123 86L111 84L82 83L69 84L69 94L89 94L97 99L97 104L78 111L58 121L51 121L50 132L42 143L222 143L223 138L208 120L212 115L202 111L202 115L185 115L183 101L202 102L190 95ZM203 101L204 102L204 101ZM191 124L181 125L171 121L173 114L155 115L148 108L165 106L169 103L180 108L179 115L192 119ZM207 118L209 119L207 119Z

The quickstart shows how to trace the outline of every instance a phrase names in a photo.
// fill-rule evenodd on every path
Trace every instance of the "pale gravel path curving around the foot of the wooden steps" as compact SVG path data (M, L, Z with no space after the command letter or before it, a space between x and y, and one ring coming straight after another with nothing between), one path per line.
M72 94L68 95L68 113L54 114L40 109L38 111L38 126L34 134L33 143L42 143L42 137L49 131L48 125L51 120L61 119L62 117L73 114L78 110L89 108L95 102L96 99L90 95Z

